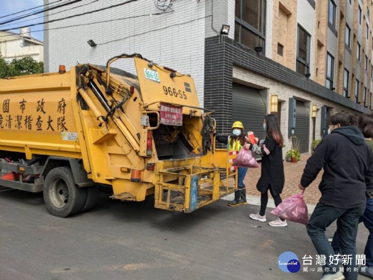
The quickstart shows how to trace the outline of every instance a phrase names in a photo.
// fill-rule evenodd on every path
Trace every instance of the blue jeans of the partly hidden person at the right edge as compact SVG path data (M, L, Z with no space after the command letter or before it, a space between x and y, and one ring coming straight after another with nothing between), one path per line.
M366 266L373 267L373 199L367 199L367 206L364 215L360 217L359 223L363 222L369 230L367 244L365 245L364 254L366 258ZM332 241L332 247L336 254L339 252L339 234L335 231Z

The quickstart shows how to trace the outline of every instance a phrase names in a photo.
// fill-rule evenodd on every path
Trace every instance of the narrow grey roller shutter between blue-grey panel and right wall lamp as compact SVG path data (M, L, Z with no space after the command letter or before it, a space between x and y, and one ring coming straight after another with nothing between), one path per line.
M304 102L297 100L294 135L300 141L301 153L308 153L310 147L310 114Z

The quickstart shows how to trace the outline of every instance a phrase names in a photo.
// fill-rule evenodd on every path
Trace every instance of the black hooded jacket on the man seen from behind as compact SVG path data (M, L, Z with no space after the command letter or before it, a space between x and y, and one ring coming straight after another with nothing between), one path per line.
M324 168L320 202L338 207L364 206L373 191L373 155L356 126L336 128L307 160L301 185L308 187Z

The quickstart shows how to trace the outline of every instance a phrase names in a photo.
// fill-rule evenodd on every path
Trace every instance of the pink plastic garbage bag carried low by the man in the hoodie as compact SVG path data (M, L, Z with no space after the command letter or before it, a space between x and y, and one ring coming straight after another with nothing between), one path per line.
M302 193L286 198L271 213L276 217L306 225L308 223L308 209L303 200L303 193L304 190Z

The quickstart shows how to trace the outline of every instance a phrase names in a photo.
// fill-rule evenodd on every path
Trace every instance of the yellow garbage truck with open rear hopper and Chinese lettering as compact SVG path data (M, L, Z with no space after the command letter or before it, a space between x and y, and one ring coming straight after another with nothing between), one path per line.
M137 75L113 68L133 59ZM111 198L192 212L236 190L235 152L216 149L190 75L140 54L106 66L0 79L0 190L43 192L68 217Z

